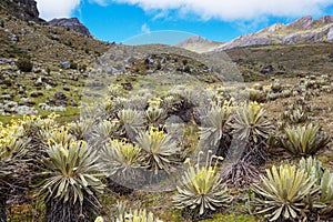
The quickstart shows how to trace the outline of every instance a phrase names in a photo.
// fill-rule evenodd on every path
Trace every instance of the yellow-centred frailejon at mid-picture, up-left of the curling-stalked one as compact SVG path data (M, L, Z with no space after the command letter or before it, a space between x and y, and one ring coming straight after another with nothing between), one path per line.
M158 174L159 170L171 172L180 162L179 152L181 148L172 140L172 137L158 128L140 132L135 143L142 149L143 162L150 170Z

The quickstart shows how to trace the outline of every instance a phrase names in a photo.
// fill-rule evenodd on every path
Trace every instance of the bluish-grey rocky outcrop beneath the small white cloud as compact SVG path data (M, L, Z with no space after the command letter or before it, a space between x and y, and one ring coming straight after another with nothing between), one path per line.
M71 29L75 32L82 33L87 37L92 37L89 29L82 24L79 19L77 18L70 18L70 19L53 19L49 21L49 24L51 27L65 27L68 29Z

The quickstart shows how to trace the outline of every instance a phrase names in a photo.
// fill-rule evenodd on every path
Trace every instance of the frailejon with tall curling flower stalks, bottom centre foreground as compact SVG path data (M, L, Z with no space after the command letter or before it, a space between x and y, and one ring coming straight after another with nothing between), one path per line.
M199 153L199 157L202 152ZM199 158L200 159L200 158ZM212 165L213 160L215 161ZM228 206L231 196L228 194L228 188L222 182L218 173L218 164L223 160L221 157L206 155L206 162L191 165L188 160L180 185L176 186L173 202L178 209L188 209L194 212L193 216L202 215L208 211L215 211L219 208Z

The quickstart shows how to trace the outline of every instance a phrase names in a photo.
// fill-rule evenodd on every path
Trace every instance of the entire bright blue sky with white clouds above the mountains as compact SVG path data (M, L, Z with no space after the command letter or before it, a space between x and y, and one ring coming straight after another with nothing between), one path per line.
M276 22L333 16L333 0L37 0L40 17L77 17L98 39L178 43L191 36L225 42Z

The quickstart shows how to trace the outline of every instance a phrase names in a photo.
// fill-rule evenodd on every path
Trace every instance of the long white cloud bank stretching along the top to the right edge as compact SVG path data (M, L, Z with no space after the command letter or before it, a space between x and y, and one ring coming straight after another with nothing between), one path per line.
M300 17L320 14L332 0L90 0L137 4L145 11L178 10L180 14L195 13L201 19L251 20L265 16ZM159 12L157 12L159 13Z

